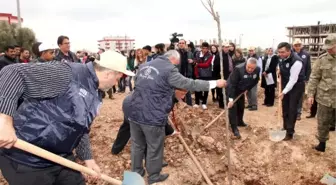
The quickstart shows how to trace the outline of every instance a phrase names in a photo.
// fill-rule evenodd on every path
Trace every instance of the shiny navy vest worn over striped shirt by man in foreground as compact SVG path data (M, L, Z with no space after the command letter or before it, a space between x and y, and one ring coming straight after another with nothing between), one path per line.
M64 94L52 99L25 99L14 117L19 139L67 157L88 133L97 116L101 99L98 78L92 63L68 63L72 80ZM4 150L3 155L17 163L45 168L53 163L21 150Z

